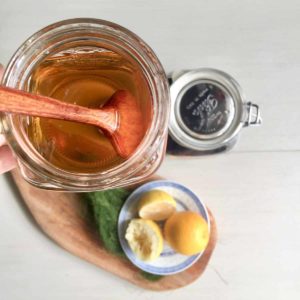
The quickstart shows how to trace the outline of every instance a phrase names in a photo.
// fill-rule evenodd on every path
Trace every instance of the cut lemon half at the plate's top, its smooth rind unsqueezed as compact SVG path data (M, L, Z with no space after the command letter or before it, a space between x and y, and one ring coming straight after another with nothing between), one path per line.
M162 221L176 210L174 198L161 190L152 190L142 195L138 204L138 213L142 219Z

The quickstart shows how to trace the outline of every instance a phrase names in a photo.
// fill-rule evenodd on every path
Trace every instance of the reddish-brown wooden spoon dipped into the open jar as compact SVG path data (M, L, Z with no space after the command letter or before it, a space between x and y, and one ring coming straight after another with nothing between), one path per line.
M98 126L124 158L143 138L142 113L136 99L125 90L115 92L103 108L91 109L0 86L0 111Z

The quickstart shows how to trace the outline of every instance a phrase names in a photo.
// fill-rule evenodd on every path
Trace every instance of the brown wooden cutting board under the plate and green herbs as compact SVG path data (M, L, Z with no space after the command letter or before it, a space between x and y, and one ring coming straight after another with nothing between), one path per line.
M215 248L217 230L210 212L211 237L201 258L181 273L149 281L128 260L110 254L101 246L96 228L89 222L83 200L77 194L35 188L16 171L13 178L37 224L53 241L70 253L145 289L176 289L193 282L205 270Z

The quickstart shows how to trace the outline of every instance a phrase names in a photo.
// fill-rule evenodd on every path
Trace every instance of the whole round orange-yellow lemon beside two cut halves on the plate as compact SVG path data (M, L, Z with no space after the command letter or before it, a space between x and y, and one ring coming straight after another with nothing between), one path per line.
M184 255L203 251L209 241L206 221L192 211L173 214L165 223L164 235L168 244Z

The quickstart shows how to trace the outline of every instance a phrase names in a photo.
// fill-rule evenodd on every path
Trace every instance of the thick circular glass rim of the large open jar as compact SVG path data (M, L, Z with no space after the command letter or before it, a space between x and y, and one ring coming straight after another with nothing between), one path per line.
M95 173L75 173L60 169L44 159L39 153L35 153L33 155L31 151L31 155L33 155L34 157L34 159L32 159L32 157L30 157L27 152L30 151L28 145L26 146L24 143L22 143L21 140L17 140L18 135L14 128L12 116L6 115L7 123L5 124L6 126L4 126L5 133L8 134L9 131L12 131L12 135L14 137L9 138L8 143L17 153L17 156L21 160L21 162L33 172L38 172L40 173L40 175L46 176L48 178L50 177L52 182L57 185L63 186L65 186L65 184L61 181L66 179L69 181L69 183L67 184L68 186L77 186L79 184L79 178L84 178L84 180L89 181L90 183L94 182L94 184L96 184L96 182L98 182L99 184L99 180L107 180L108 176L110 180L118 180L117 175L120 173L123 174L123 178L124 174L126 174L126 177L130 177L136 174L139 169L142 169L144 167L144 164L149 163L147 161L150 160L154 155L157 147L161 143L163 143L168 130L167 124L170 106L169 89L167 77L161 63L159 62L154 51L136 34L120 25L109 21L91 18L76 18L60 21L39 30L31 37L29 37L15 52L5 70L2 81L3 84L13 88L22 89L22 80L21 78L16 77L19 77L20 75L23 76L23 79L24 77L26 77L26 67L28 68L30 67L30 65L24 65L24 61L27 59L29 63L34 63L34 61L30 62L30 55L36 55L36 51L32 51L34 47L37 47L37 45L40 47L41 45L45 46L45 41L47 41L47 39L53 38L53 36L63 36L65 33L70 31L83 32L83 30L90 30L93 32L97 32L98 34L105 33L107 34L107 36L116 37L117 43L119 43L118 45L121 47L121 44L123 44L123 50L125 49L124 45L126 45L128 47L126 51L132 51L132 53L130 54L135 56L135 59L139 66L142 68L143 73L147 73L147 76L144 74L146 80L150 81L148 82L148 84L152 95L153 115L150 128L148 129L144 140L141 142L135 153L116 167L113 167L106 171ZM109 42L109 40L107 40L107 42ZM47 48L44 48L40 51L43 51L40 52L41 56L48 50ZM37 61L35 61L35 63L36 62ZM23 70L21 72L20 68L22 69L22 67ZM15 74L16 69L19 70ZM160 105L160 102L163 101L166 104L164 105L164 107ZM149 134L149 132L151 132L151 134ZM144 157L145 155L148 159L146 159L145 157L144 164L139 164L137 166L137 160L141 157ZM42 167L40 165L41 162L43 163Z

